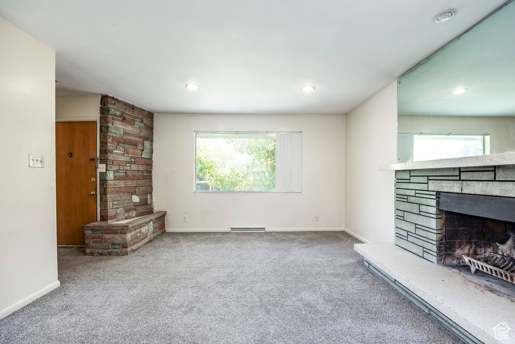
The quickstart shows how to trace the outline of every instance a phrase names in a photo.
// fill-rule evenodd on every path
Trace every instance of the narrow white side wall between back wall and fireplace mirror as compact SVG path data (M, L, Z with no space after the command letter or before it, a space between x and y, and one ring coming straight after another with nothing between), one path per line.
M397 81L346 115L345 227L365 242L393 242Z

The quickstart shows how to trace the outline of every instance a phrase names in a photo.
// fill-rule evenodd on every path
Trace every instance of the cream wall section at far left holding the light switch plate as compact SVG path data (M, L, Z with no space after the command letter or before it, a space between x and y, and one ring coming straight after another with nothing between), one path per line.
M0 318L59 286L55 52L0 18ZM29 168L29 153L45 168ZM8 164L8 165L7 165Z

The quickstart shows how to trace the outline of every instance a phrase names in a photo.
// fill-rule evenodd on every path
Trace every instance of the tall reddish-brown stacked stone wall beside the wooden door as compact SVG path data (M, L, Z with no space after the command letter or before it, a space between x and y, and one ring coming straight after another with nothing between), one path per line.
M152 214L154 114L109 95L100 102L100 220Z

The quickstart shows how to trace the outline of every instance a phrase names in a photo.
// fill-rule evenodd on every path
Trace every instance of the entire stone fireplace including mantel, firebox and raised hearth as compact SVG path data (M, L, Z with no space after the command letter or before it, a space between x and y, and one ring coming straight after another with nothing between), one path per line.
M515 272L514 162L506 153L382 166L395 171L395 244L354 245L366 267L467 343L496 342L496 326L513 321L515 282L495 266Z

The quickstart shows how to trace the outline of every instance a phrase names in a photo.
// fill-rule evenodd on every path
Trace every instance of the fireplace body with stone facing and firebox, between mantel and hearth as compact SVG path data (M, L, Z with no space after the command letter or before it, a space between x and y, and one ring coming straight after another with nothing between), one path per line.
M396 171L397 245L515 283L515 166Z

